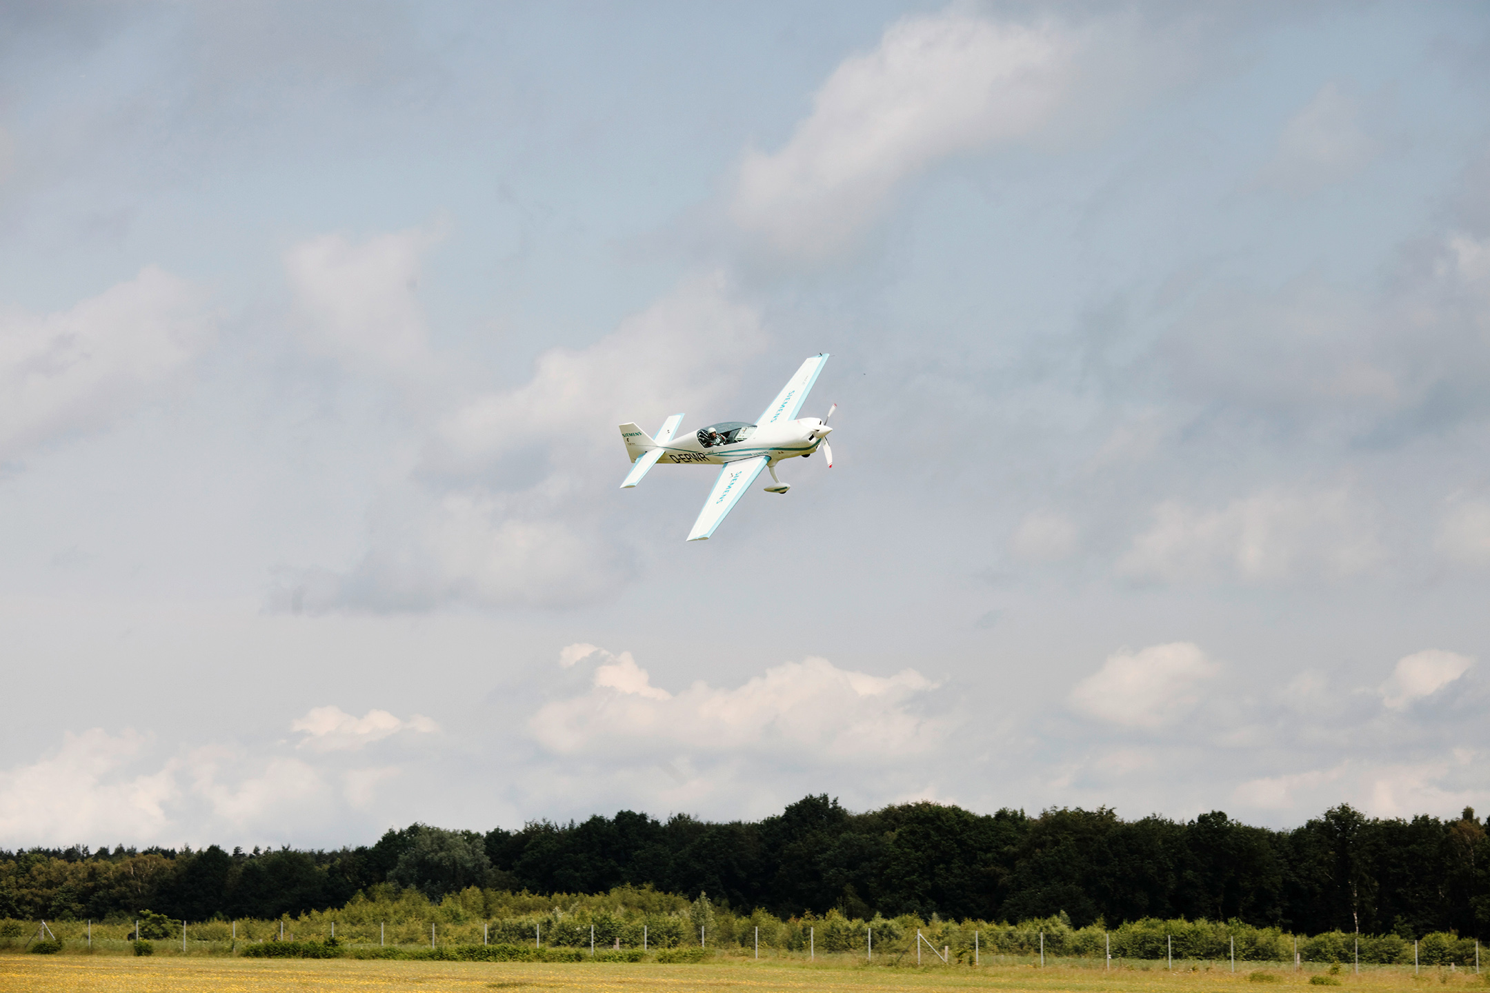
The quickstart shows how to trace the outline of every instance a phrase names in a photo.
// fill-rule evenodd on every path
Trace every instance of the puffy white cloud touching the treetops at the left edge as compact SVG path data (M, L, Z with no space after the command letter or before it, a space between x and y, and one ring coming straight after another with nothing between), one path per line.
M67 732L54 755L0 771L0 838L55 846L158 837L168 822L165 804L179 794L174 770L121 776L145 744L130 731Z

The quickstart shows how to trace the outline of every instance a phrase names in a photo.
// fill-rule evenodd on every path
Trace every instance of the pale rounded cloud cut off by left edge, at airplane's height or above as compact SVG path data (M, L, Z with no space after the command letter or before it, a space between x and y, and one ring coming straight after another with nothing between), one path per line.
M212 329L206 295L153 265L72 310L0 314L0 462L130 409Z

